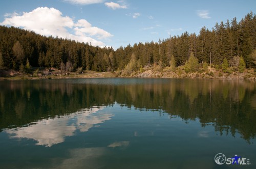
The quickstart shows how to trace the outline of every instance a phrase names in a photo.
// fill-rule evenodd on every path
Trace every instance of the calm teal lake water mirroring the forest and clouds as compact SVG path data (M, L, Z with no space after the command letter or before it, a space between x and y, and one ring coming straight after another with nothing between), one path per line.
M255 136L253 81L0 81L0 168L256 168Z

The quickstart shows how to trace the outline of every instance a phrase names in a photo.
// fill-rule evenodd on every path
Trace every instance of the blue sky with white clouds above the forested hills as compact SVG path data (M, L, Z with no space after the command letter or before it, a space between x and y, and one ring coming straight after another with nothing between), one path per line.
M0 1L0 24L116 49L199 34L202 26L211 29L234 17L240 21L255 9L255 0L8 0Z

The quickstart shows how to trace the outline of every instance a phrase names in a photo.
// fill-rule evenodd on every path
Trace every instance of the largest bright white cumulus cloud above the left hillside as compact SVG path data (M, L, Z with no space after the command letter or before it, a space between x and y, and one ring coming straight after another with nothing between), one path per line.
M104 46L104 43L97 39L112 37L110 33L92 26L85 19L74 22L69 16L62 16L62 13L54 8L36 8L31 12L6 14L2 25L23 27L26 30L34 31L45 36L58 36L80 42L92 43L95 46ZM74 33L68 32L71 29Z

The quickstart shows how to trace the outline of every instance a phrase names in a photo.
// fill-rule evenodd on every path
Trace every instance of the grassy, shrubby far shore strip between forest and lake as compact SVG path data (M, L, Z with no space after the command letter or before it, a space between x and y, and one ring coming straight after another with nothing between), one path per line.
M96 72L91 70L81 72L65 72L55 68L31 68L30 72L20 72L15 70L0 69L0 80L22 80L22 79L65 79L65 78L113 78L113 77L140 77L140 78L207 78L207 79L248 79L255 80L256 72L254 69L246 70L243 73L232 72L222 73L215 69L208 68L205 72L171 71L168 68L156 70L154 68L144 68L143 71L132 72L124 71Z

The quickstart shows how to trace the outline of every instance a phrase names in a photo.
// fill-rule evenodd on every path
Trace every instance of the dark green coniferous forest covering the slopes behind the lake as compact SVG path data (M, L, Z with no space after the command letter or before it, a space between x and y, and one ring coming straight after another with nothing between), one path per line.
M134 71L151 65L186 66L189 58L218 67L223 64L236 67L240 62L246 68L255 68L255 14L250 12L240 21L236 17L221 21L212 29L202 27L199 35L185 32L158 42L120 46L116 50L0 26L0 69L20 70L32 66L66 71L77 68L99 72L127 68ZM132 65L132 61L136 64Z

